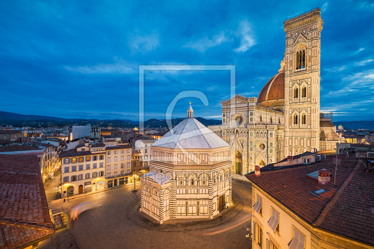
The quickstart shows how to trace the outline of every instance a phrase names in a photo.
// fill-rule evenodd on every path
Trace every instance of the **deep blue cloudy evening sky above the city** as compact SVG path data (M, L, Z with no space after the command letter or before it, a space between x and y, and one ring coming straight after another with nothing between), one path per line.
M138 119L139 65L235 65L239 94L258 97L283 58L283 21L322 8L321 111L374 119L370 1L1 1L1 111ZM146 71L145 120L220 119L229 71Z

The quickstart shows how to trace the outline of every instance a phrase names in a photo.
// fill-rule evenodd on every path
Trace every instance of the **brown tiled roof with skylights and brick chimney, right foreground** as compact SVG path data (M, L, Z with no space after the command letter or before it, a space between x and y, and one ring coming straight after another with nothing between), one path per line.
M370 211L370 206L374 205L370 176L373 169L368 174L367 163L352 156L354 154L348 159L338 156L336 176L336 156L328 156L325 162L268 168L261 170L259 177L251 173L246 177L310 224L374 245L374 221ZM322 185L307 175L320 169L330 171L330 182ZM322 187L328 191L313 194Z

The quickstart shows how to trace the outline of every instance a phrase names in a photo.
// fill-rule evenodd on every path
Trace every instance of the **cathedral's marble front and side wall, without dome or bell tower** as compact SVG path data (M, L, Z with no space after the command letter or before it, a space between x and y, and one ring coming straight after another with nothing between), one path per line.
M257 97L236 94L221 101L222 125L208 126L231 147L232 172L245 175L255 165L283 159L284 115L256 105Z

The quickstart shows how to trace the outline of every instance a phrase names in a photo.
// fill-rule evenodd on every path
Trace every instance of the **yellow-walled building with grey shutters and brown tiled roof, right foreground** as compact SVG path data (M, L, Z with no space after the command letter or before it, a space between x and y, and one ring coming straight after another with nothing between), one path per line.
M252 249L374 248L374 189L366 184L372 180L360 160L344 158L336 179L335 156L312 165L257 166L246 175Z

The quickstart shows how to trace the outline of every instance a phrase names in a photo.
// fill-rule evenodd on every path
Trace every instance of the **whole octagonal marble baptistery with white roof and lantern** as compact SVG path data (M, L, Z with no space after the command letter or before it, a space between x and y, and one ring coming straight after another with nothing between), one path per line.
M232 205L230 145L193 118L151 146L151 171L141 177L140 210L163 224L214 218Z

